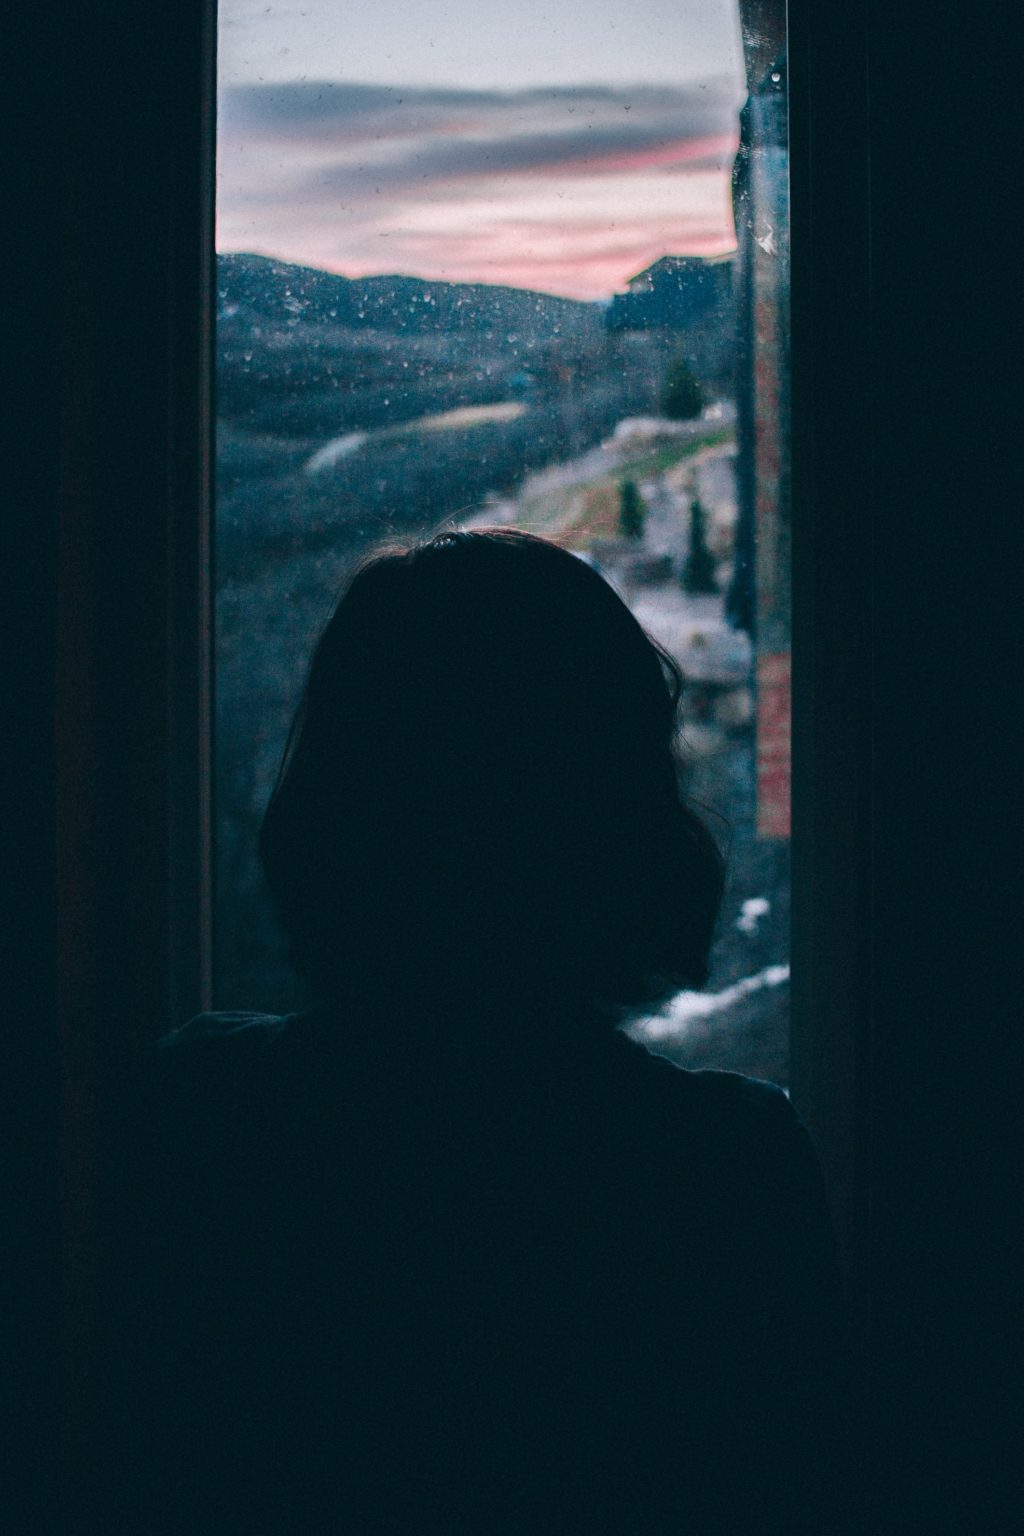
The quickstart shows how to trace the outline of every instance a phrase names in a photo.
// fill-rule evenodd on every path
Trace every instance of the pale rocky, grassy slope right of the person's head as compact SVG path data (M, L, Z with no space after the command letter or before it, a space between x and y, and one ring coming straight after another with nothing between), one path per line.
M649 1049L683 1066L789 1075L789 845L755 836L752 654L725 621L735 531L732 413L702 421L622 421L613 436L568 464L527 479L464 527L507 524L554 538L591 559L645 630L679 662L686 788L728 849L728 885L708 988L680 994L634 1026ZM639 539L619 535L625 478L645 507ZM689 594L689 504L699 498L720 591Z

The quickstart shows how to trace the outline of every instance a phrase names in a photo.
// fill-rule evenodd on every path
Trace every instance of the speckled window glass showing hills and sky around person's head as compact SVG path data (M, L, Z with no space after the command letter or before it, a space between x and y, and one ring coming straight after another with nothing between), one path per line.
M301 1003L256 862L312 642L381 542L514 525L679 660L729 848L703 994L788 1078L788 163L777 0L221 0L218 1006Z

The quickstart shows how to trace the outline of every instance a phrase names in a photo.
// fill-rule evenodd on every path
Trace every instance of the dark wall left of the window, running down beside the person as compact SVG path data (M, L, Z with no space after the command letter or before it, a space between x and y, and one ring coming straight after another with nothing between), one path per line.
M88 0L9 40L11 1528L103 1528L112 1104L154 1023L203 992L209 20Z

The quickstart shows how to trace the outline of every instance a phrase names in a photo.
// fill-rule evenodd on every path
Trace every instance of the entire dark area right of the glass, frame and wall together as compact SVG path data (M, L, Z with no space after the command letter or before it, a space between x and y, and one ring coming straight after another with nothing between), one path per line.
M1009 18L806 0L789 18L794 1097L847 1243L878 1528L1009 1531Z

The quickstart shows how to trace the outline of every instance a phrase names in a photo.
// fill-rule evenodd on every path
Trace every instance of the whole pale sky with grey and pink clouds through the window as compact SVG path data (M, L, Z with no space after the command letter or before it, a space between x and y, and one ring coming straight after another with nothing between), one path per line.
M218 75L218 250L593 300L735 244L735 0L221 0Z

